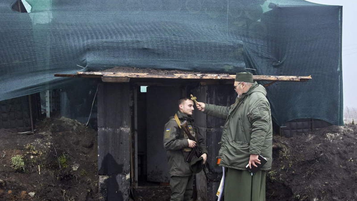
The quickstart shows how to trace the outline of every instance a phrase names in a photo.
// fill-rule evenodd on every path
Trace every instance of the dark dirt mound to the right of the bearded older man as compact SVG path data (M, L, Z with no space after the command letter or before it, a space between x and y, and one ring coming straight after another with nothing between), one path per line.
M330 126L291 138L274 136L267 200L357 198L357 126Z

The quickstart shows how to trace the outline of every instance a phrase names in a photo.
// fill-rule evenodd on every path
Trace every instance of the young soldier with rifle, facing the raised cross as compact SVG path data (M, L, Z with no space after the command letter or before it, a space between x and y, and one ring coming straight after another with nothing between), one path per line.
M165 124L164 148L170 168L170 201L191 200L193 175L201 171L200 167L207 159L206 144L193 123L193 110L192 100L180 99L175 117Z

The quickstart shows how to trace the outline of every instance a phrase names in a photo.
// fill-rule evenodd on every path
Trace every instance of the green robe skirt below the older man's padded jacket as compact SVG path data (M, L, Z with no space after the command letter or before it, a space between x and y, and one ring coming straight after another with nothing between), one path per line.
M251 176L249 171L227 168L224 185L225 201L265 201L266 171Z

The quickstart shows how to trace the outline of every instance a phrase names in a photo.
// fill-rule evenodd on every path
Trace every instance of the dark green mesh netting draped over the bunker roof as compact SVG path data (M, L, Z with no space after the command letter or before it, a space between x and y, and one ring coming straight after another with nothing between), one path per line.
M306 83L267 87L280 126L298 118L343 124L342 6L303 0L21 1L30 13L13 10L15 0L0 2L0 100L59 88L73 79L55 73L79 70L248 70L312 75Z

